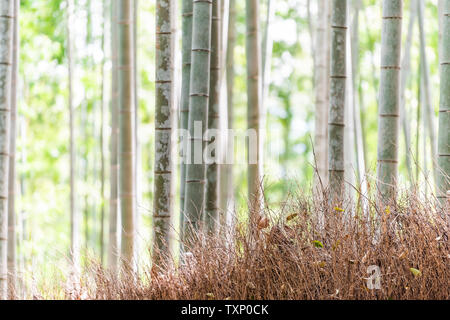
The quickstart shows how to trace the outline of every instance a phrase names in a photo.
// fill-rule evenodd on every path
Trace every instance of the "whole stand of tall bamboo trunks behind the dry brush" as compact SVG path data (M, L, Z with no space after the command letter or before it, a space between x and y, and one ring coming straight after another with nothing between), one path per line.
M22 5L31 6L28 2L22 1ZM117 274L120 270L138 269L141 261L139 243L142 245L139 238L143 233L151 235L146 237L151 239L151 244L146 243L146 250L151 252L155 267L165 265L173 256L179 257L178 261L183 263L190 246L200 241L202 232L225 234L235 228L238 197L245 203L243 211L248 230L264 227L268 193L264 179L266 174L270 174L264 163L265 136L272 126L269 96L274 90L279 90L281 100L285 96L283 88L276 89L271 82L272 76L278 72L272 65L272 55L276 50L283 51L282 47L274 45L273 38L277 35L272 31L280 1L152 1L155 23L149 25L142 21L154 37L151 68L140 64L139 49L149 44L139 40L137 21L142 14L141 8L144 5L148 8L148 3L138 0L54 2L57 3L54 8L61 11L59 23L64 29L60 36L63 44L61 61L67 77L63 105L68 120L64 126L68 128L68 134L64 137L67 138L70 168L68 182L65 182L69 190L69 205L67 211L64 210L70 225L64 232L70 235L66 254L70 257L73 274L77 276L81 272L83 261L87 259L83 244L89 246L88 239L92 235L86 226L92 220L100 225L98 239L95 240L100 243L99 259ZM96 23L90 16L94 2L101 13L102 22L96 24L100 29L92 27ZM346 196L355 195L349 185L356 185L359 194L368 192L369 163L365 152L369 145L365 125L368 115L363 109L365 89L358 88L362 64L359 61L360 37L365 35L381 39L380 61L371 61L371 73L380 75L379 81L374 79L371 83L378 93L378 124L374 129L377 134L376 177L373 179L379 205L388 208L396 200L401 187L400 162L406 163L408 180L417 182L413 163L419 161L414 159L414 155L420 154L432 167L427 179L428 195L436 198L438 210L447 210L445 206L450 190L450 0L437 2L439 21L424 18L425 6L430 7L429 1L379 1L376 7L382 12L381 19L371 22L381 26L378 35L369 33L367 21L365 30L360 26L367 1L297 2L302 6L302 12L307 12L307 23L299 23L296 28L297 31L309 28L312 47L310 62L313 74L310 78L314 129L309 132L313 137L314 153L311 161L314 163L312 193L316 196L320 193L330 206L340 208ZM0 2L1 298L8 296L7 288L12 294L19 283L17 268L20 259L16 239L20 210L16 204L20 199L16 199L19 197L16 197L15 190L18 184L22 186L24 183L22 176L16 174L17 165L23 165L23 159L16 156L21 141L18 97L25 101L27 95L27 92L21 92L26 90L19 86L20 78L32 77L30 74L33 73L33 70L19 72L20 46L25 43L21 36L27 37L19 28L20 6L19 0ZM75 20L80 19L77 12L81 12L82 6L85 6L83 12L88 22L86 38L82 40L87 43L86 48L96 44L102 52L101 59L95 50L77 52L80 37ZM311 10L311 6L315 9ZM245 14L239 12L242 8ZM407 21L404 18L406 10ZM435 29L440 30L439 110L433 105L425 23L436 24ZM416 134L411 132L413 114L407 111L409 100L406 94L415 72L412 52L416 25L420 44L417 48L420 63L416 72L420 108L416 116L418 119L422 117L420 121L424 128L420 135L419 128ZM407 30L403 30L404 26ZM238 46L240 39L244 39L243 45ZM240 59L236 58L238 50L245 50ZM238 65L242 60L245 60L244 64ZM86 79L94 72L99 74L100 80L91 79L100 83L95 93L80 89L81 71L77 68L81 63L84 69L92 71L90 76L85 76ZM143 85L141 75L149 70L153 72L149 82L154 86L154 95L152 101L144 101L139 97L139 87ZM241 77L244 80L237 78L239 72L245 74ZM236 108L236 100L240 99L236 94L237 85L245 88L246 144L245 150L238 151L246 155L245 170L233 163L233 132L237 127L236 117L242 113ZM86 97L94 95L95 98L90 103L80 102L77 98L80 90ZM140 111L144 107L152 109L154 116L142 116ZM303 106L292 107L300 109ZM100 121L91 120L98 126L94 128L94 134L94 129L91 132L86 123L89 122L89 112L93 114L97 110ZM285 112L286 119L289 119L289 112ZM23 113L21 117L26 118L27 114L32 112ZM152 126L152 134L142 135L140 126L149 125ZM294 124L289 122L289 126L292 128ZM287 130L286 135L289 134ZM423 151L414 153L413 145L419 148L419 136L423 139ZM402 139L408 149L405 154L399 149ZM141 141L149 140L153 148L144 150L150 144L144 145ZM89 144L98 146L97 150L92 151L91 148L89 151ZM147 156L143 158L143 154ZM206 161L206 158L213 160ZM143 161L151 162L145 166L148 170L143 170ZM352 166L354 162L356 166ZM89 176L89 166L92 166L96 177ZM139 181L145 179L151 179L151 205L145 204L141 196ZM92 213L92 217L88 215L89 210L83 209L88 207L90 197L89 192L83 189L89 184L100 193L98 210L92 209L98 214ZM246 186L245 194L236 192L238 184ZM140 212L143 208L150 213L151 226L142 223ZM325 223L327 217L320 219Z

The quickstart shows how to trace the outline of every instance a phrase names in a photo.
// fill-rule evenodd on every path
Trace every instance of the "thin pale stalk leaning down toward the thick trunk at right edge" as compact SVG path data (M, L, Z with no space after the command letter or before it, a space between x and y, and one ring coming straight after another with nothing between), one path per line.
M430 87L430 72L428 69L428 59L426 53L426 36L425 36L425 26L424 26L424 14L425 14L425 3L424 1L419 1L419 34L420 34L420 58L422 65L422 77L424 86L424 107L426 112L424 113L425 121L427 122L428 138L431 145L431 165L433 168L433 180L437 182L437 141L436 132L434 125L435 112L432 102L432 93Z

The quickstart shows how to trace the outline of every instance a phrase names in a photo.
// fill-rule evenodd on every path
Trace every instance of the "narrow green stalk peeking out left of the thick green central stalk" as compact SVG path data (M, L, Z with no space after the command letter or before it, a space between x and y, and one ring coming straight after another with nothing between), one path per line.
M191 54L192 54L192 0L183 0L182 7L182 78L181 78L181 102L180 102L180 129L188 130L189 124L189 90L191 80ZM187 141L186 141L187 142ZM180 233L183 239L184 228L184 199L186 188L186 156L187 143L181 148L180 166Z

